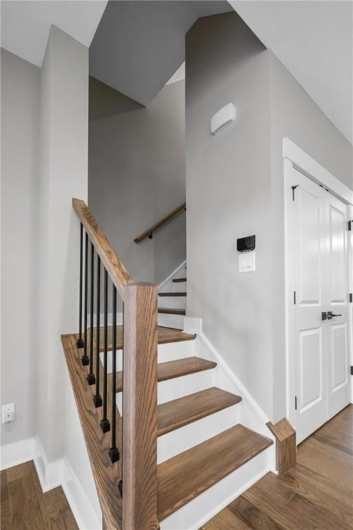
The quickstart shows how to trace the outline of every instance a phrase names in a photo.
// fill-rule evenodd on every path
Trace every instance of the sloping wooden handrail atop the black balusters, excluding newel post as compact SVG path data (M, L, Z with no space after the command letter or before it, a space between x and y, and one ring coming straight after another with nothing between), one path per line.
M114 248L112 248L94 215L88 209L87 204L81 199L72 199L72 206L83 224L83 228L88 233L88 237L90 237L103 265L107 269L110 279L117 287L119 295L125 300L125 286L134 283L134 279L128 273L117 253L115 253Z

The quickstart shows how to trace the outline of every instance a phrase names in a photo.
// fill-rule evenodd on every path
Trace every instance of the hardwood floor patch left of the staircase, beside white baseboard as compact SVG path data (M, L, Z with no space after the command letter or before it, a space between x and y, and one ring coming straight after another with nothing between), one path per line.
M61 487L41 490L33 462L1 471L1 530L78 530Z

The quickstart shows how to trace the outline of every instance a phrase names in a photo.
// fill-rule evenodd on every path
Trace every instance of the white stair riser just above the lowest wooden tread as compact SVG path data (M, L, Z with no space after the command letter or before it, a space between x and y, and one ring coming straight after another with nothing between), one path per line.
M216 436L222 431L230 429L230 427L238 423L237 406L229 406L227 409L223 409L201 420L185 425L180 429L159 436L157 450L158 463L160 464L183 451L187 451L190 447L201 444L205 440L212 438L212 436Z

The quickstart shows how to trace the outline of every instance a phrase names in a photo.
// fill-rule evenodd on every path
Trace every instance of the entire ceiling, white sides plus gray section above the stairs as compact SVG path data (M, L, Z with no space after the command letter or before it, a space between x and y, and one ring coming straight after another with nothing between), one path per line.
M230 4L352 142L353 1ZM1 47L41 66L54 24L92 43L91 75L146 105L183 63L194 21L232 8L219 0L2 0Z

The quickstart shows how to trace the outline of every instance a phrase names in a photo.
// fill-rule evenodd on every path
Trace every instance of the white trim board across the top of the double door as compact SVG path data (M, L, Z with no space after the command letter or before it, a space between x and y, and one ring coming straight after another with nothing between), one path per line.
M300 147L296 146L289 138L282 141L283 158L288 158L296 169L304 175L314 180L317 184L322 184L333 195L342 199L347 204L353 204L353 190L345 186L343 182L334 177L323 166L316 162L310 155L307 155Z

